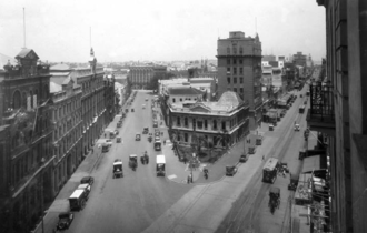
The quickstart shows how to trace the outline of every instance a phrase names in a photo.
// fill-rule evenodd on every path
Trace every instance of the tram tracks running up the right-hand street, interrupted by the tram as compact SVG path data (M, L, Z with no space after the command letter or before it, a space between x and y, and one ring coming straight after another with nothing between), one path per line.
M288 122L299 122L301 118L302 114L299 114L297 111L295 111L294 115L290 118L290 121L288 120ZM291 139L295 134L295 131L291 130L292 125L292 123L289 123L284 129L267 158L269 158L269 155L275 156L278 158L279 161L284 159L287 150L289 149ZM280 146L281 150L279 151L279 153L277 153L277 150ZM262 166L260 166L256 171L251 179L251 182L249 183L249 185L247 185L247 188L240 195L240 199L234 203L234 207L231 209L225 221L220 224L217 232L237 233L242 232L245 229L254 229L252 217L257 216L259 212L259 207L256 210L256 206L260 206L267 191L271 186L271 184L266 184L261 182L261 175Z

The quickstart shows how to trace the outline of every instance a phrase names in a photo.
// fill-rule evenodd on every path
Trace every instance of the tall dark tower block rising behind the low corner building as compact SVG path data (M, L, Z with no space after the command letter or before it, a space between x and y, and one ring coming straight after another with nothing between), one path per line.
M234 91L250 105L250 129L262 119L261 42L245 37L241 31L229 32L228 39L218 39L218 95Z

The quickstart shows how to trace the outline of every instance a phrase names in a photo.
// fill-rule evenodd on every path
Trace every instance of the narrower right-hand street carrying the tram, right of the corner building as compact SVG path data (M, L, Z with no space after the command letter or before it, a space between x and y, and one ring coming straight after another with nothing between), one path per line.
M306 114L298 113L298 107L302 104L305 90L295 92L298 98L292 107L287 111L285 118L275 128L275 131L266 132L266 139L258 148L257 154L265 154L266 159L274 156L280 162L288 164L289 173L299 173L301 161L298 160L299 149L304 146L305 139L302 132L306 129ZM300 98L299 94L304 94ZM300 124L300 131L294 130L294 122ZM266 161L266 160L265 160ZM262 165L265 163L262 162ZM234 207L218 227L217 232L289 232L290 224L290 202L294 192L287 189L289 174L286 178L278 174L274 184L264 183L262 166L260 165L254 174L251 181L246 186L244 193L234 204ZM280 188L280 206L270 213L268 207L270 186Z

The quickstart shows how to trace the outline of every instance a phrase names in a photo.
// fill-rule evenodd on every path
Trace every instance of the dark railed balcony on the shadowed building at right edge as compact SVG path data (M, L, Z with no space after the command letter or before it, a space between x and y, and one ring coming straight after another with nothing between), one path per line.
M330 83L314 82L309 87L310 108L307 124L310 130L335 135L335 112Z

